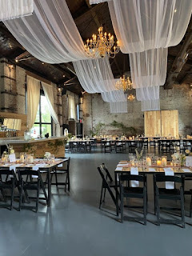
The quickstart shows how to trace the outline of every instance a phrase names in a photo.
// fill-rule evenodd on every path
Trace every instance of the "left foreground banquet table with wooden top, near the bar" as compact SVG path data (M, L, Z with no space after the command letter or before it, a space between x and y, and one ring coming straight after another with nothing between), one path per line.
M18 160L19 161L19 160ZM17 169L30 169L30 170L39 170L41 172L47 172L47 178L48 178L48 193L47 193L47 206L51 205L51 177L50 173L54 170L54 168L61 167L63 162L68 161L68 158L55 158L54 162L49 163L46 161L46 159L42 158L36 158L34 159L34 163L21 163L21 162L9 162L9 163L2 163L0 162L0 168L3 167L3 169L7 168L7 170L14 170L14 172L17 172Z

